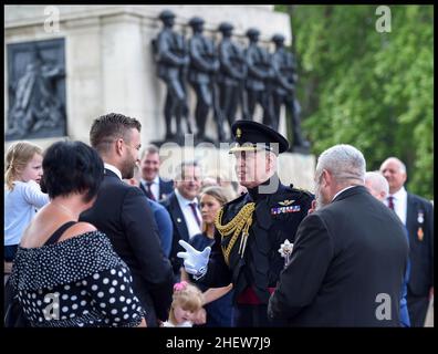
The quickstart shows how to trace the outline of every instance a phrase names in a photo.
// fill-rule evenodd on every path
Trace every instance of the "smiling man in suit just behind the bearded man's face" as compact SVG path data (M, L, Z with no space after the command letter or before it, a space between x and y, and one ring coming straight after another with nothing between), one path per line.
M159 150L155 145L147 146L140 159L142 178L139 187L146 197L158 201L174 191L174 181L159 177Z

